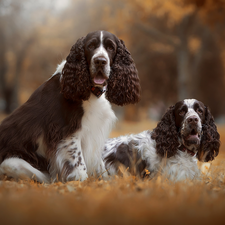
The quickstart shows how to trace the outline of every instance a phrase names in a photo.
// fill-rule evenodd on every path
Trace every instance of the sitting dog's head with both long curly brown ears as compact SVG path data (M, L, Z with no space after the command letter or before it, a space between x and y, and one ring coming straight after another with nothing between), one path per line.
M104 86L112 103L139 101L138 72L123 41L107 31L95 31L71 48L62 71L61 89L67 99L87 100L93 87Z

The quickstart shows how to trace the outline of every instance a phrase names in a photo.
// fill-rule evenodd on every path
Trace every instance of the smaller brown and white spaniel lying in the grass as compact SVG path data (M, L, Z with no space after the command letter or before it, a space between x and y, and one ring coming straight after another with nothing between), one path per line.
M179 181L200 178L197 159L211 161L219 153L220 135L202 102L186 99L169 107L153 131L108 139L103 158L111 175L119 165L150 178L158 173Z

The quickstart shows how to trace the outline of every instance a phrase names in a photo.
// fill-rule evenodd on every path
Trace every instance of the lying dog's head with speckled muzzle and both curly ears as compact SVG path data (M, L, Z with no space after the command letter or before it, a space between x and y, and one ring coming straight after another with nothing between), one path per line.
M210 161L218 155L220 135L214 119L202 102L185 99L171 106L152 133L157 152L171 157L179 146L184 146L201 161Z

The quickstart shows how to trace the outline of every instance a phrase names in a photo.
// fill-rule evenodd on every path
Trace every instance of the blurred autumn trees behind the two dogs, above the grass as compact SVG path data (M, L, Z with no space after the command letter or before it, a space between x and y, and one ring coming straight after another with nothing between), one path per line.
M159 120L184 98L225 115L224 0L0 0L0 112L24 103L90 31L123 39L142 86L138 105L119 119Z

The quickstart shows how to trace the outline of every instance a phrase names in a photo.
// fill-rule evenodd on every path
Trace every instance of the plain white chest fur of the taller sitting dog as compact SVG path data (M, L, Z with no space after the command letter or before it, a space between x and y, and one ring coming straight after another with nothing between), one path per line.
M102 171L104 144L116 121L116 116L104 94L100 98L91 94L89 100L83 102L83 109L84 115L78 136L81 140L87 173L92 175L93 171L97 173Z

